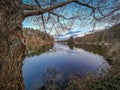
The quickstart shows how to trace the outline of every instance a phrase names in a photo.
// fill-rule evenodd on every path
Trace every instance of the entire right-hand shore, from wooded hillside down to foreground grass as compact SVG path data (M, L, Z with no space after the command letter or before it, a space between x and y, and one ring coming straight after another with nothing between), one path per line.
M94 48L96 46L103 47L104 53L99 54L105 57L111 67L105 76L100 78L90 76L87 80L83 80L84 84L82 86L79 80L75 80L72 85L81 86L83 90L120 90L120 23L108 29L75 38L75 44L77 47L86 45L88 47L92 45ZM79 84L75 84L76 82ZM71 87L71 85L68 87Z

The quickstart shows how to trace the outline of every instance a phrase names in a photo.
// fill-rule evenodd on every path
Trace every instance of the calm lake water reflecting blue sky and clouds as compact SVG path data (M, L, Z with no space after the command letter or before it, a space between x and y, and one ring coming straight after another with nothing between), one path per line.
M57 82L84 78L89 73L99 76L108 67L101 55L56 43L44 53L26 56L22 72L25 90L40 90L48 78Z

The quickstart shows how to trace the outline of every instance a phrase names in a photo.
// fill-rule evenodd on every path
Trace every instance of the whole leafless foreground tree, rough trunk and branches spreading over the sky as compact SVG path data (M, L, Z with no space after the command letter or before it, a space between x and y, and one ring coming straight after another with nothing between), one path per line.
M40 15L44 29L48 21L51 29L54 26L66 29L72 23L65 20L88 18L93 22L109 17L120 21L119 4L119 0L0 0L0 89L23 89L21 66L25 46L21 29L26 17Z

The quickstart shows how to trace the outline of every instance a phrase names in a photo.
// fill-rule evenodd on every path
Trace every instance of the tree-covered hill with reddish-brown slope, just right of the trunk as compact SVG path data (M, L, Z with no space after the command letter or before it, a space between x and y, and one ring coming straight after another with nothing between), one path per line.
M41 32L40 30L34 30L32 28L23 28L23 36L26 44L44 44L45 42L53 41L54 38L48 33Z

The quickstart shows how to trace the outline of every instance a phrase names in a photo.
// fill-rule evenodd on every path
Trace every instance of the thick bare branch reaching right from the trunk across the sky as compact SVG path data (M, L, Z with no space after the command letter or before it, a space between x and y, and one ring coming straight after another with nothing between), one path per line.
M94 11L94 9L95 9L95 7L93 7L89 4L80 2L79 0L67 0L65 2L61 2L61 3L55 4L53 6L50 6L50 7L47 7L47 8L43 9L43 8L40 7L40 4L37 1L37 4L38 4L39 7L25 5L25 4L23 5L23 8L26 9L26 10L30 10L30 8L32 9L32 11L25 12L24 16L29 17L29 16L34 16L34 15L40 15L40 14L43 14L43 13L46 13L46 12L50 12L50 11L56 9L56 8L63 7L63 6L65 6L67 4L70 4L70 3L77 3L79 5L82 5L82 6L85 6L87 8L92 9L92 11Z

